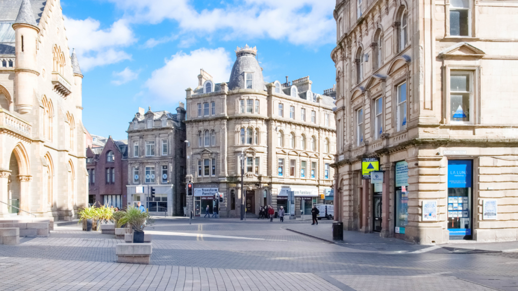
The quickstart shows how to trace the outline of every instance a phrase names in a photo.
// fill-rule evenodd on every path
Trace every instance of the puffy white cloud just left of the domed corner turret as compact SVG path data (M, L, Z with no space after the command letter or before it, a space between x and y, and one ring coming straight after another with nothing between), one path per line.
M196 88L199 69L203 68L215 83L226 82L233 62L223 48L201 48L186 54L182 51L165 60L165 66L156 69L146 81L148 90L169 103L185 98L185 89Z

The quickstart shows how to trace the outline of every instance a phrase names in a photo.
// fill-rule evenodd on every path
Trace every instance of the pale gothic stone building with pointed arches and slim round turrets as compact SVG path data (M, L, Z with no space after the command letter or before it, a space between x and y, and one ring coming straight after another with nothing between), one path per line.
M0 42L0 201L71 220L88 201L83 75L59 0L0 0Z

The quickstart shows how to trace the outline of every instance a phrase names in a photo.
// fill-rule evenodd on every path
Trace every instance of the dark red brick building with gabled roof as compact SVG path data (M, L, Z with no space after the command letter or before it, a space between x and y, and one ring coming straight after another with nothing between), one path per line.
M113 140L110 136L104 147L88 147L89 204L125 208L127 169L127 141Z

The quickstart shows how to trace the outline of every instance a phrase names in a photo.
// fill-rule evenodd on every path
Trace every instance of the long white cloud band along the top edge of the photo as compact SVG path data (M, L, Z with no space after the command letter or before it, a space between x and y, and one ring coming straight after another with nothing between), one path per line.
M202 11L189 0L109 1L125 10L129 21L156 24L170 19L178 22L183 33L229 30L227 40L269 37L308 46L336 39L336 0L245 0L242 5Z

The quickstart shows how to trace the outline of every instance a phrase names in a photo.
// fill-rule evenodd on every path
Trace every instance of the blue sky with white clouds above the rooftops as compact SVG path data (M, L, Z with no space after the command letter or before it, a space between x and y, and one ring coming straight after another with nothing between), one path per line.
M62 0L83 71L83 124L126 139L138 107L176 112L199 69L227 82L234 50L256 46L265 81L335 84L335 0Z

